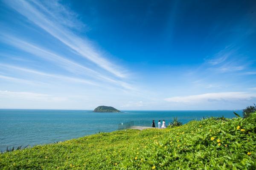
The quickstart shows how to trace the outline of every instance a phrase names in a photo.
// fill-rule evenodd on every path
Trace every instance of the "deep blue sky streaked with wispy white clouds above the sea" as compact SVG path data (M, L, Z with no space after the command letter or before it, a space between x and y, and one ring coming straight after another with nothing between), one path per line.
M254 102L255 0L0 0L0 108Z

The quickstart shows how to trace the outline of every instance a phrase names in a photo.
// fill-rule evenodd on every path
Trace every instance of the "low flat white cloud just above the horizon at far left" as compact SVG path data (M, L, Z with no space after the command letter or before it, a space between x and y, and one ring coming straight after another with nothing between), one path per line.
M12 91L0 91L0 98L11 98L11 99L29 99L29 100L40 100L40 101L66 101L66 97L56 97L49 94L39 94L31 92L12 92Z

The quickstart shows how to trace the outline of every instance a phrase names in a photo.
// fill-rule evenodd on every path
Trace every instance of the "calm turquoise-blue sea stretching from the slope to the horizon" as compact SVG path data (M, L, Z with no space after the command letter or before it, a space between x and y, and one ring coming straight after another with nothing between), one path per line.
M122 111L121 113L93 113L84 110L0 109L0 151L10 147L29 147L75 139L99 132L117 130L126 122L151 125L165 119L166 125L174 117L186 124L203 117L236 117L233 110L218 111ZM242 115L241 110L236 113Z

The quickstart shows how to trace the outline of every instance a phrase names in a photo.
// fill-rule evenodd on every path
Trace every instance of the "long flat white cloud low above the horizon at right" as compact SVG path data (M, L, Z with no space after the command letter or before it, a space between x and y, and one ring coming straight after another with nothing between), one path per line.
M213 101L233 101L233 100L250 100L256 97L256 94L247 92L223 92L223 93L207 93L191 96L175 96L166 98L167 102L179 103L197 103L197 102L213 102Z

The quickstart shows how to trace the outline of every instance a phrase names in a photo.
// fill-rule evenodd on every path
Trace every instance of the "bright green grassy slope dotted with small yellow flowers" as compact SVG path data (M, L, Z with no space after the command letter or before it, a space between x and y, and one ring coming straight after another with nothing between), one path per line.
M253 114L249 119L210 118L164 130L121 130L16 150L0 155L0 169L255 170L255 146Z

